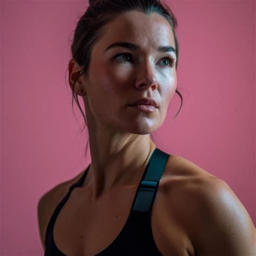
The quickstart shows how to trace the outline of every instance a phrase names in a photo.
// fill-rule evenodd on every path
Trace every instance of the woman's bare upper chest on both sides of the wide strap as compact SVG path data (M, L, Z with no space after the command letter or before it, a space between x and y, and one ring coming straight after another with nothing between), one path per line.
M173 217L166 214L166 196L161 184L160 181L151 214L154 242L163 255L192 255L188 251L193 251L193 246L176 218L177 214ZM123 230L136 190L137 186L113 190L92 203L85 191L74 188L53 227L53 240L58 249L72 256L91 256L102 252Z

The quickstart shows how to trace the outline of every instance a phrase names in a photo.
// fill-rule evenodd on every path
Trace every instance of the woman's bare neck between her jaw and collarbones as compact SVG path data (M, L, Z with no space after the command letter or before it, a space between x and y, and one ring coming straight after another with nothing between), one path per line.
M90 140L92 160L83 186L92 191L92 200L113 188L138 185L156 149L149 134L132 134L126 142L102 145Z

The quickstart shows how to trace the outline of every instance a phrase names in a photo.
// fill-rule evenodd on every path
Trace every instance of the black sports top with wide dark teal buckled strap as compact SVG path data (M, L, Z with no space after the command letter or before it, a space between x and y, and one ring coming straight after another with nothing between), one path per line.
M96 254L96 256L162 255L153 239L151 228L151 209L154 198L156 197L159 180L164 172L169 157L170 154L167 154L157 148L153 151L149 162L147 163L142 180L138 185L129 217L127 218L122 231L120 231L117 238L114 239L109 246L107 246L102 252ZM60 201L53 212L46 230L44 256L65 256L64 253L58 250L55 242L53 241L53 225L59 211L68 200L73 188L83 184L89 167L90 165L87 167L79 181L70 186L69 192L62 201Z

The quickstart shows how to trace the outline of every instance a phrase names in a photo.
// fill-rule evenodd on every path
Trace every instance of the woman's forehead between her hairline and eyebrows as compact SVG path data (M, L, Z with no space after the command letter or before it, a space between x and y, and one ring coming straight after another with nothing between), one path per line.
M176 48L171 25L156 12L146 15L136 10L119 15L104 26L95 48L104 51L108 45L119 41L136 43L143 51L156 51L159 45Z

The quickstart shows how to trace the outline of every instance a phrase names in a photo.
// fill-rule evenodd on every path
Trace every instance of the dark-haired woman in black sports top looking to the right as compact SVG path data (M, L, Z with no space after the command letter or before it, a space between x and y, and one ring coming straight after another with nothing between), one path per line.
M171 10L153 0L90 4L69 84L83 97L91 164L39 202L45 255L254 255L254 225L225 181L150 138L177 91Z

